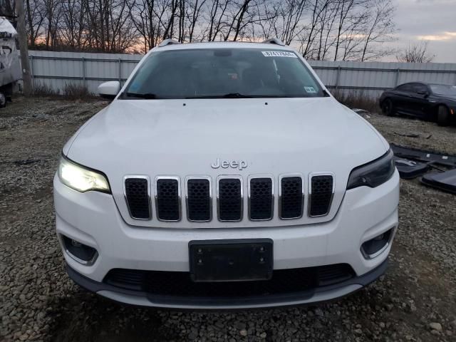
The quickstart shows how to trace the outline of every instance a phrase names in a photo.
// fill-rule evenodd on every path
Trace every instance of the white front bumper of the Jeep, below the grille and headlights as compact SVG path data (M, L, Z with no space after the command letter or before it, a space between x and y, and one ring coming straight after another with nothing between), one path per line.
M385 270L391 244L373 259L361 253L361 244L398 226L399 177L393 177L374 190L358 187L348 190L336 217L330 222L293 227L256 227L227 229L163 229L132 227L119 214L111 195L100 192L81 194L54 178L56 229L62 235L76 239L98 251L93 264L83 265L63 249L68 274L83 287L102 296L130 304L179 308L247 308L306 304L326 301L361 289ZM284 222L286 224L286 222ZM274 270L298 269L313 266L348 264L356 276L330 288L318 287L310 293L268 298L267 302L243 300L237 305L204 304L197 301L181 304L160 300L130 291L119 291L103 283L112 269L151 271L190 270L188 243L207 239L272 239L274 241ZM82 280L81 280L82 279ZM368 279L368 280L366 280ZM285 298L286 297L286 298Z

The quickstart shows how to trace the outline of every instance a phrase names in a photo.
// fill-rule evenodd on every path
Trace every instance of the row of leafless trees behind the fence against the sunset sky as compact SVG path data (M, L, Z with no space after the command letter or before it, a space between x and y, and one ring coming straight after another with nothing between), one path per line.
M277 37L306 58L366 61L392 53L384 43L395 30L393 0L24 1L30 46L73 51Z

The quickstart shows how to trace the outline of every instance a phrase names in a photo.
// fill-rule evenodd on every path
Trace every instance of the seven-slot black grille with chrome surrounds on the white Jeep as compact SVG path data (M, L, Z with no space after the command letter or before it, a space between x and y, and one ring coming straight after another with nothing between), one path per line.
M246 219L261 221L299 219L303 216L304 177L301 174L280 175L278 185L272 175L250 175L246 179L248 214ZM213 187L215 191L213 190ZM185 212L190 222L212 221L212 207L217 208L216 219L221 222L239 222L243 219L244 184L239 175L222 175L217 180L209 176L187 176L182 180L185 189ZM274 189L279 190L278 214L274 214ZM152 190L152 191L151 191ZM130 217L152 219L150 194L153 192L155 217L160 221L177 222L182 219L180 177L157 176L150 182L148 176L130 175L124 178L124 195ZM334 177L331 172L312 172L306 202L308 217L321 217L331 210L334 195ZM212 203L216 196L217 204Z

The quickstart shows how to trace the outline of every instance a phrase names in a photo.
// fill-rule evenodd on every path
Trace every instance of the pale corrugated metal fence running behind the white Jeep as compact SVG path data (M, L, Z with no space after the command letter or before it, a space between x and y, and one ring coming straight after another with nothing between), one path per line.
M104 81L125 82L142 55L29 51L35 85L63 91L67 84L91 93ZM456 63L385 63L309 61L330 89L371 98L398 84L423 81L456 85Z

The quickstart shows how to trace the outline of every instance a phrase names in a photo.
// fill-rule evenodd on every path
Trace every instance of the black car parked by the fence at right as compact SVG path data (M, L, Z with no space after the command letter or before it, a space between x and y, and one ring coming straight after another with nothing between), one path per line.
M407 114L450 125L456 120L456 86L430 83L405 83L380 96L386 115Z

